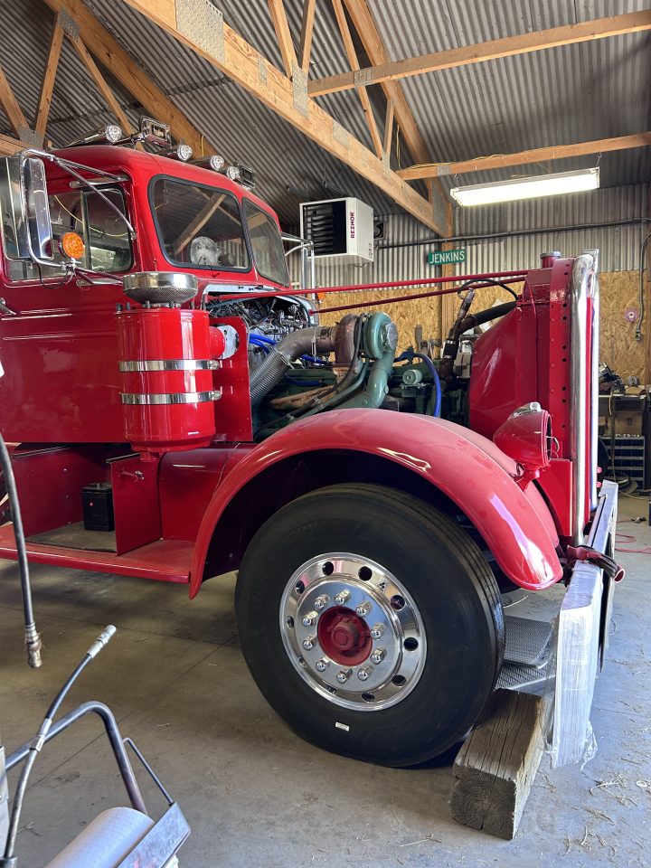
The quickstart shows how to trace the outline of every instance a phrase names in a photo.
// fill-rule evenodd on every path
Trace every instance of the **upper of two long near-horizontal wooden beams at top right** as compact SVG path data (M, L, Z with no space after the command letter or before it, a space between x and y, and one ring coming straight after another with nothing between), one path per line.
M470 63L495 61L498 58L513 57L514 54L540 52L575 42L590 42L594 39L620 36L623 33L640 33L649 29L651 29L651 9L623 15L609 15L608 18L564 24L549 30L507 36L504 39L479 42L476 45L464 45L462 48L453 48L447 52L422 54L403 61L387 61L357 73L344 72L341 75L331 75L311 81L308 93L311 97L318 97L337 90L366 87L369 84L403 79L410 75L449 70Z

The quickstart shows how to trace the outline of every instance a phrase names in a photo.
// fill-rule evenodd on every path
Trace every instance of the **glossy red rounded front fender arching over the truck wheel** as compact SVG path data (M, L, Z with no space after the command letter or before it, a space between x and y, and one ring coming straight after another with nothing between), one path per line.
M233 467L212 495L197 534L190 580L194 597L222 513L259 473L301 453L322 449L365 452L407 467L439 488L482 534L505 575L528 590L548 588L562 575L558 535L542 495L514 482L517 467L492 440L454 422L391 410L333 410L278 431Z

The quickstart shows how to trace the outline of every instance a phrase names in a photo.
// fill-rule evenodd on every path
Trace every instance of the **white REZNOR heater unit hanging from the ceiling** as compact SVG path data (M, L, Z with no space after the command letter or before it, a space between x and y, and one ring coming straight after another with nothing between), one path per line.
M343 263L373 262L373 208L359 199L301 203L301 237L315 256Z

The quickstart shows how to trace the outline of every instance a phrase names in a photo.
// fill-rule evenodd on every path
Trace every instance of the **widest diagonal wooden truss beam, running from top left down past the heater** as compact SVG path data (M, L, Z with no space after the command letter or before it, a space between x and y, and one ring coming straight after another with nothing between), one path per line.
M52 0L47 2L52 3ZM148 20L162 27L166 33L175 36L193 52L212 63L216 69L241 85L279 117L378 186L405 211L439 235L444 234L444 227L434 218L431 203L394 172L386 171L378 156L340 127L313 99L308 99L305 91L295 90L287 75L269 64L269 61L228 24L221 22L221 16L218 16L216 10L212 17L211 7L202 5L202 9L206 10L206 27L218 28L215 37L218 37L219 44L213 47L211 43L198 37L196 30L186 23L186 4L181 9L180 3L177 6L177 0L122 2L132 6Z

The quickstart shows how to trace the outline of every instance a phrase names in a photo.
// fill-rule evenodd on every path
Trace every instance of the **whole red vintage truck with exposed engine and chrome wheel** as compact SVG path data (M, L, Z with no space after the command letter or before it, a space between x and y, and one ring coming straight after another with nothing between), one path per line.
M487 311L467 280L442 357L396 358L384 313L319 325L291 293L250 173L143 148L160 136L111 127L0 164L0 430L30 560L192 598L239 571L269 703L393 766L476 722L505 673L503 595L564 582L545 677L554 757L577 760L619 577L597 252L543 259ZM461 370L462 333L489 321Z

